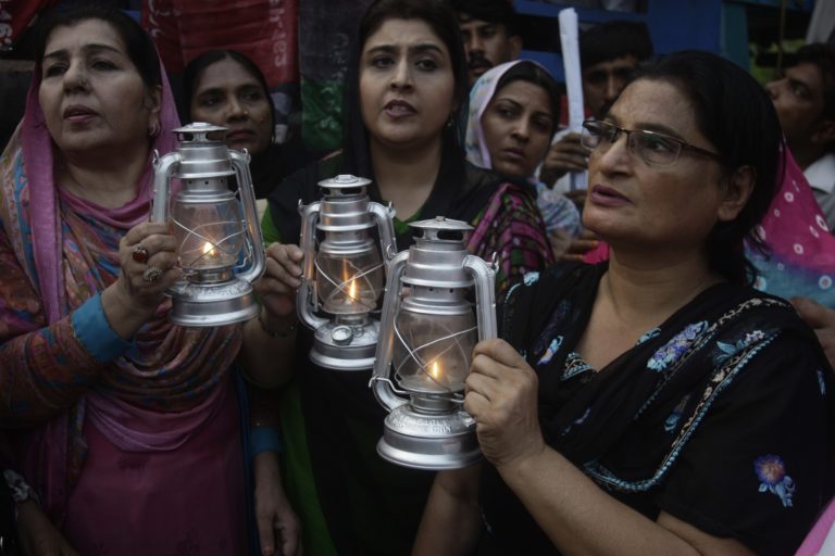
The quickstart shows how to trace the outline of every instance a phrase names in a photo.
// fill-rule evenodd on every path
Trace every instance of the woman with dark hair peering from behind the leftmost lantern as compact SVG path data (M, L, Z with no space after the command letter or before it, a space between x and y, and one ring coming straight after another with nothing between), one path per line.
M183 87L191 121L227 127L226 146L252 155L256 197L267 197L287 172L274 143L275 113L261 70L240 52L210 50L188 63Z

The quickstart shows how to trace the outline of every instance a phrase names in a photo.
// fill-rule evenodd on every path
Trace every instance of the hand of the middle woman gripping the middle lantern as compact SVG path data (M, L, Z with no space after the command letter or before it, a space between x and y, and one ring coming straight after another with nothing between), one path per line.
M256 283L256 292L267 316L282 320L296 315L296 290L301 286L303 257L301 249L289 243L273 243L266 249L266 268Z

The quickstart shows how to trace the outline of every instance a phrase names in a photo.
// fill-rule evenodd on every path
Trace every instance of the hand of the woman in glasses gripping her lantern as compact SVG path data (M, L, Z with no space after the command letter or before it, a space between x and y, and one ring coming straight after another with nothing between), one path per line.
M485 340L473 350L464 409L475 419L482 452L496 468L545 450L538 384L534 369L508 342Z

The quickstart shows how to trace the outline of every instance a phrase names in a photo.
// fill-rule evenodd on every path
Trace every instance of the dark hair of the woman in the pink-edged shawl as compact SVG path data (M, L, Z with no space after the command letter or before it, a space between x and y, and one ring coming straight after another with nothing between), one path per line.
M38 65L43 62L47 41L57 27L73 27L82 22L99 20L109 24L125 43L127 58L136 66L148 88L162 85L160 56L153 46L151 36L129 15L115 8L107 5L80 5L70 10L53 9L38 24L35 42L35 60Z

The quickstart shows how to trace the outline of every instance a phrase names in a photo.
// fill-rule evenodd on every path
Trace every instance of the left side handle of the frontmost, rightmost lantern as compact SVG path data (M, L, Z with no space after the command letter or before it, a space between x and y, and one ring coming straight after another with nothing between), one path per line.
M386 263L386 294L383 298L383 312L379 315L379 336L377 354L374 359L374 372L369 386L374 389L374 397L379 405L391 412L407 403L399 397L388 378L391 368L391 350L395 343L395 317L400 308L400 279L409 261L409 251L401 251ZM389 291L389 289L391 289Z

